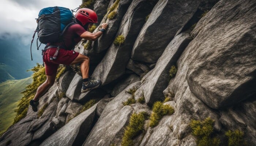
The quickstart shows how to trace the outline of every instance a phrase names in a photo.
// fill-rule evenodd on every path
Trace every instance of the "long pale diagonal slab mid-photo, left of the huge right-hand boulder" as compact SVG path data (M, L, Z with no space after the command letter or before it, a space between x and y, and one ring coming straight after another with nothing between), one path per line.
M172 65L176 64L178 57L190 41L189 34L182 33L169 43L155 68L143 77L142 85L135 93L135 99L138 99L142 93L144 93L145 101L149 105L164 99L163 90L169 82L169 70Z

